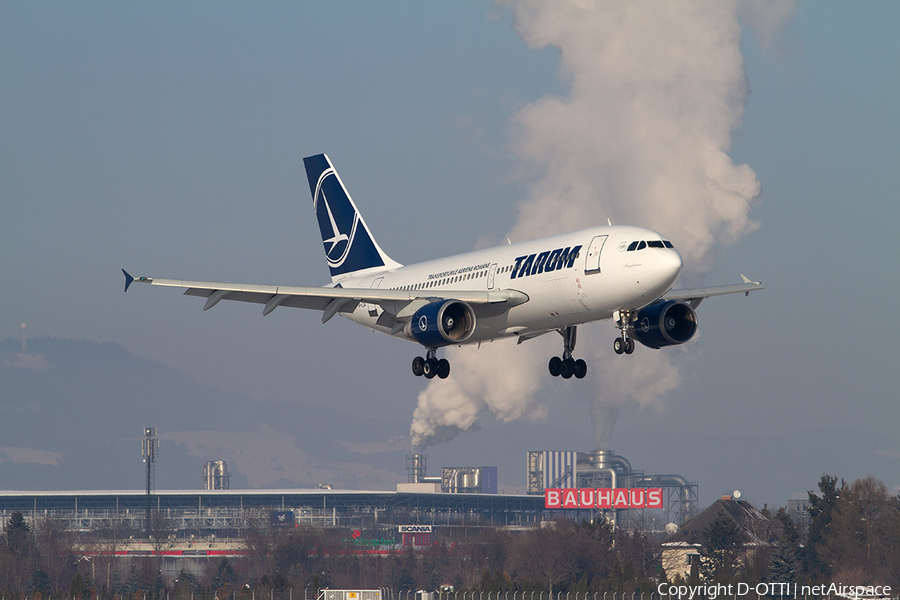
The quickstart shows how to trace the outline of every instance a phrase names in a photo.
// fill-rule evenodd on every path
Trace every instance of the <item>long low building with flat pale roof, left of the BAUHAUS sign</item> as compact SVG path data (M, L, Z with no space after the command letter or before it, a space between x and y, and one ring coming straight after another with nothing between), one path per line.
M145 530L147 495L141 491L2 492L0 521L13 512L29 520L52 517L75 531ZM268 522L272 511L290 511L297 525L371 528L531 526L546 518L542 497L499 494L402 493L348 490L158 491L155 514L178 537L239 537Z

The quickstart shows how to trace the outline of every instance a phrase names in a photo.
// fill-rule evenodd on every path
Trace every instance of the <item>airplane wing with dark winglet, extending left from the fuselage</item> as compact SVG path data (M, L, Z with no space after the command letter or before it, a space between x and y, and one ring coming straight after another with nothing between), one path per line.
M475 305L503 305L512 307L528 301L528 296L515 290L449 291L446 296L427 294L425 290L379 290L369 288L298 287L281 285L254 285L242 283L218 283L213 281L184 281L179 279L157 279L154 277L132 277L125 269L125 291L133 282L149 283L163 287L184 289L185 296L206 298L203 310L209 310L220 300L236 300L263 304L263 315L279 306L308 308L323 311L325 323L338 312L350 313L359 303L378 304L394 321L404 321L431 302L443 298L463 300ZM427 294L427 295L426 295Z

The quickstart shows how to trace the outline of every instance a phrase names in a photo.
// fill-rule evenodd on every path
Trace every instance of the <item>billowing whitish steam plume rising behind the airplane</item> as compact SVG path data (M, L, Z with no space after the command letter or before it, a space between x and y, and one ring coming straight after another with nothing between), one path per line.
M512 147L530 191L509 236L552 235L607 218L649 227L681 252L683 283L700 284L716 246L758 227L750 212L759 180L727 154L749 93L738 14L768 41L793 8L718 0L500 5L529 47L559 50L569 84L566 96L541 98L512 119ZM640 347L616 356L615 330L608 332L580 330L575 352L590 365L590 387L577 385L593 394L598 447L609 447L621 407L662 406L687 355L683 348ZM551 339L555 345L545 342ZM414 446L449 441L485 410L504 421L541 418L541 386L561 384L545 365L562 342L555 334L540 340L450 349L451 379L419 395Z

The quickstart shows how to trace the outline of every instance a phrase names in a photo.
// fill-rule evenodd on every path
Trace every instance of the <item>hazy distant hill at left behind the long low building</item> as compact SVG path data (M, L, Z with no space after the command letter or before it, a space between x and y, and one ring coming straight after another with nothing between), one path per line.
M44 337L22 352L19 340L0 342L0 489L142 489L144 427L159 433L158 489L200 489L203 464L219 459L233 488L406 479L406 422L302 395L260 405L113 343Z

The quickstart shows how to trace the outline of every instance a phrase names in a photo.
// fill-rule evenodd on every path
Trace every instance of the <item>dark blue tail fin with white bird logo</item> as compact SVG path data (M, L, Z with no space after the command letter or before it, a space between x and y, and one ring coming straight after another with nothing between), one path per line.
M400 266L378 247L328 157L309 156L303 164L331 279L337 281L365 269Z

